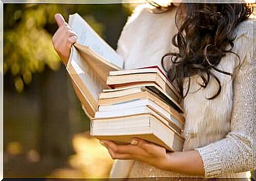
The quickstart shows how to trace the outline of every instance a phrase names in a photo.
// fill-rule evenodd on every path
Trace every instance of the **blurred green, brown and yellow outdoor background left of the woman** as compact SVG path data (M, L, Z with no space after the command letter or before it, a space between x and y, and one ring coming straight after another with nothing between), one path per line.
M133 6L4 4L4 177L108 177L107 149L52 45L53 15L79 13L113 48Z

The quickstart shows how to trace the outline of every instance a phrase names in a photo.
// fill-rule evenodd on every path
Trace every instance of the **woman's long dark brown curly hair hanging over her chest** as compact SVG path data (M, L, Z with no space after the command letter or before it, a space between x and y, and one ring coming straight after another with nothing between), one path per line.
M173 5L167 7L149 2L158 9L168 11ZM220 80L211 70L229 75L229 72L217 69L221 58L232 52L235 39L234 30L239 23L245 21L253 12L252 4L210 4L210 3L181 3L177 9L175 23L178 33L172 39L178 52L167 53L162 57L162 66L167 72L170 81L177 85L177 90L184 98L189 90L191 76L198 74L203 81L201 88L205 88L210 77L214 78L219 89L207 99L214 99L221 92ZM227 47L231 47L227 49ZM172 66L164 66L164 58L170 56ZM166 59L165 59L166 60ZM184 94L183 78L188 77L188 89ZM199 84L199 83L198 83Z

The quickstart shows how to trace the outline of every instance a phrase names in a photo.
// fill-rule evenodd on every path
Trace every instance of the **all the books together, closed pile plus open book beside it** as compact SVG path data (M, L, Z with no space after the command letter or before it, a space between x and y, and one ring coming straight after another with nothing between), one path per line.
M91 119L90 134L118 144L137 137L170 151L182 150L184 109L161 69L122 69L124 59L78 14L70 16L69 24L79 43L72 47L67 70Z

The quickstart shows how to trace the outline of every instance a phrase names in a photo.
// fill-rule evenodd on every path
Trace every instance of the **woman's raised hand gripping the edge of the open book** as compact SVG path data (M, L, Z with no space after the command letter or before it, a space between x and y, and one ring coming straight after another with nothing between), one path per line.
M54 18L59 28L52 37L52 43L55 51L66 66L70 56L71 46L78 41L78 36L71 30L61 14L55 14Z

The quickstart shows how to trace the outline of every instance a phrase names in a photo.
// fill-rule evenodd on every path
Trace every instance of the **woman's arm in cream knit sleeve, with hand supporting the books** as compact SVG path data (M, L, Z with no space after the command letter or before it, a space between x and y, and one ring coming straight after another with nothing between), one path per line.
M244 26L235 45L241 67L233 80L233 110L230 133L224 139L189 152L166 153L163 147L135 139L130 145L101 141L114 159L138 159L164 170L205 177L252 170L253 163L253 81L255 43L252 24ZM254 44L254 45L253 45ZM254 48L254 49L253 49Z

